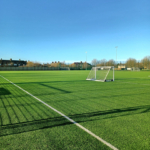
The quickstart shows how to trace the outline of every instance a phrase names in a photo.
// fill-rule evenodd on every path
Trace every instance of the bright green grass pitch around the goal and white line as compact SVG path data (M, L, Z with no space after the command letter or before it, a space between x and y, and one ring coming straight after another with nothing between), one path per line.
M120 150L150 149L150 71L1 71L0 75ZM0 76L0 149L110 149Z

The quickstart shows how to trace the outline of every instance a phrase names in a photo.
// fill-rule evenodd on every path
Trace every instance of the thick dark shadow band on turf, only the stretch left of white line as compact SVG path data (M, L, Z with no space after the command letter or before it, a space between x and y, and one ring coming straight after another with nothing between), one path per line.
M47 118L0 126L0 137L72 124L64 117Z

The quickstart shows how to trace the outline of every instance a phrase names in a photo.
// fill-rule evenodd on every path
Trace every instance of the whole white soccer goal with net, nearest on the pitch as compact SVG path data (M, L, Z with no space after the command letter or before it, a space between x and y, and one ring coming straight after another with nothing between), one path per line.
M114 66L92 67L86 80L114 81Z

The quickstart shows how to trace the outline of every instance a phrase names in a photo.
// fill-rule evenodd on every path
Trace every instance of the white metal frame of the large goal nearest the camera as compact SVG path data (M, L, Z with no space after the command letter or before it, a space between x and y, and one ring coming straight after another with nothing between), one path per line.
M92 67L91 71L93 71L93 68L94 68L94 73L95 73L95 74L94 74L94 77L95 77L95 78L89 79L89 78L87 77L86 80L90 80L90 81L100 81L100 82L109 82L109 81L114 81L114 80L115 80L115 78L114 78L114 76L115 76L115 73L114 73L114 66ZM97 79L96 79L96 71L97 71L98 68L108 68L108 72L106 73L104 79L102 79L102 80L97 80ZM112 75L113 77L112 77L112 79L106 79L107 76L108 76L108 74L109 74L110 69L112 69L112 71L113 71L113 75ZM90 73L91 73L91 71L90 71ZM89 74L90 74L90 73L89 73ZM88 76L89 76L89 75L88 75Z

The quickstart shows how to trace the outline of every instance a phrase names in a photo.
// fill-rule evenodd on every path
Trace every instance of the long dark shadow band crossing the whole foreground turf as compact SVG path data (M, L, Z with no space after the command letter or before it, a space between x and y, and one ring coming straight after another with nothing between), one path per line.
M6 109L6 111L7 111L7 109ZM34 111L36 111L36 110L34 110ZM69 115L69 117L71 119L75 120L76 122L80 123L80 122L109 119L109 118L122 117L122 116L128 116L128 115L135 115L135 114L141 114L141 113L147 113L147 112L150 112L150 105ZM38 112L36 112L36 113L38 113ZM23 111L22 111L22 114L25 115L23 113ZM11 118L10 118L10 114L8 111L7 111L7 115L8 115L8 118L10 119L10 123L0 126L0 131L1 131L0 137L72 124L71 122L66 120L64 117L54 117L54 118L47 118L47 119L41 118L41 119L36 120L34 118L34 116L33 116L32 121L19 122L19 119L18 119L18 123L11 123ZM15 114L15 115L17 115L17 114ZM30 115L32 115L32 114L30 113ZM40 114L38 114L38 115L40 115ZM17 118L17 116L16 116L16 118ZM0 113L0 120L1 120L1 122L3 122L1 113ZM27 120L27 117L26 117L26 120Z

